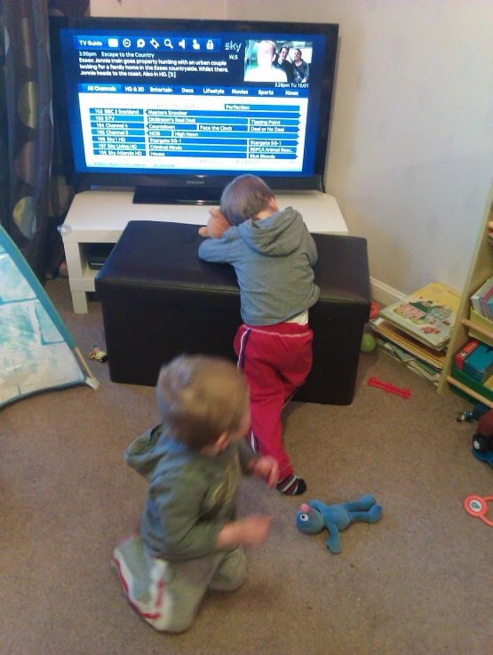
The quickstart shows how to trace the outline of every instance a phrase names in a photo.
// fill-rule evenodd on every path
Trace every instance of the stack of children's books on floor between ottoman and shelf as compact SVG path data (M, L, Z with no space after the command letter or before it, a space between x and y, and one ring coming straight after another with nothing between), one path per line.
M437 385L459 304L460 293L433 282L381 309L370 326L389 355Z

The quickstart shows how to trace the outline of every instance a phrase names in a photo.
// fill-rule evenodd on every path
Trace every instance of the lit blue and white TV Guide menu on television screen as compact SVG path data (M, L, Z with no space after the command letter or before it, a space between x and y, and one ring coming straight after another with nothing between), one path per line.
M318 101L314 76L322 76L312 59L322 58L322 36L67 32L79 170L304 170L309 102ZM292 44L302 49L310 78L288 82L272 58L266 65L266 41L277 52L284 43L291 55Z

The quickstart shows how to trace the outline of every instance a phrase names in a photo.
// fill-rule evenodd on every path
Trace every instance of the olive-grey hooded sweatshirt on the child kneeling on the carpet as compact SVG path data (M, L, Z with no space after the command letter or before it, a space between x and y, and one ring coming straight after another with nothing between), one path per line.
M157 425L139 436L125 461L149 481L140 534L150 555L186 562L218 551L219 531L236 515L246 439L216 456L192 451Z

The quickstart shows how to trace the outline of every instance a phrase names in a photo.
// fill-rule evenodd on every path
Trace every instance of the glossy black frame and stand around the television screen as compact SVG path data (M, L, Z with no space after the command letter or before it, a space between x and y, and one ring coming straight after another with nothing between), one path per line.
M246 35L256 32L292 32L327 36L325 49L325 76L322 80L319 124L316 136L314 173L311 176L268 176L261 175L275 191L324 190L326 162L329 152L330 122L335 87L336 63L338 54L338 23L308 23L253 20L202 20L166 18L113 18L50 16L50 36L52 51L53 113L60 130L63 166L68 183L83 187L123 187L135 188L134 202L165 203L216 203L220 192L242 172L232 172L230 176L205 173L125 173L125 172L79 172L76 171L72 148L72 135L68 121L68 100L65 86L65 72L62 64L60 28L70 29L124 29L131 26L155 30L203 30L240 32ZM247 171L245 171L247 172ZM187 196L180 197L184 189ZM210 197L208 197L210 196Z

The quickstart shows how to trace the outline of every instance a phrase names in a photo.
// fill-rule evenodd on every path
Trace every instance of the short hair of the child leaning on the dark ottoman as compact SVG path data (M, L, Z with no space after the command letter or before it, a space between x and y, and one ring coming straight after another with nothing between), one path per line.
M219 211L231 225L240 225L267 209L274 191L257 175L240 175L229 182L221 196Z

